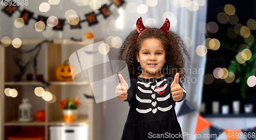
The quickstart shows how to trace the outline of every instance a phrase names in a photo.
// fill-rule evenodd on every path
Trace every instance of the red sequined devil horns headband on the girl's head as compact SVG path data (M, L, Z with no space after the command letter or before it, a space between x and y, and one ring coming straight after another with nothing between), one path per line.
M140 36L140 34L141 34L143 31L146 31L146 27L144 26L141 17L138 18L138 20L137 20L137 22L136 22L136 28L137 28L137 31L138 31L138 33L139 33L139 36ZM168 18L166 18L165 21L164 21L164 23L163 23L163 25L162 25L162 27L160 27L159 30L163 31L163 33L165 34L165 37L166 37L166 34L168 33L169 29L170 29L170 21L169 21ZM154 29L154 30L155 30L155 29ZM138 36L138 38L139 38L139 36ZM138 38L137 38L137 41L138 41ZM166 37L166 39L167 39L167 37ZM136 44L137 44L137 42L136 42Z

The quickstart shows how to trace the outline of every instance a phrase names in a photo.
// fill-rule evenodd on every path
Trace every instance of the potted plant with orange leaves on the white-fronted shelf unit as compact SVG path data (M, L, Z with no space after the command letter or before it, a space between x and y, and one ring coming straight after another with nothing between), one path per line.
M77 119L78 105L81 105L77 100L78 96L74 100L67 98L59 102L60 107L63 110L63 120L67 123L73 122Z

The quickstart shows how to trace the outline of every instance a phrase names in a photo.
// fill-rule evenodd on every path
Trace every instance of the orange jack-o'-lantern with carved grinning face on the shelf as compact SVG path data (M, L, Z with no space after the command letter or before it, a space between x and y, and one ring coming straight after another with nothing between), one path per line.
M68 60L65 61L64 65L58 65L55 69L55 77L59 81L72 81L72 72L75 74L75 68L69 65Z

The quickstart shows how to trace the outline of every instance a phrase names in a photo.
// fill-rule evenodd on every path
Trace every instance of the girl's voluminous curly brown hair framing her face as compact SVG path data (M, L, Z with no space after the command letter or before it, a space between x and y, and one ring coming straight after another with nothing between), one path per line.
M135 78L139 76L139 73L141 73L141 70L138 69L140 63L136 59L136 54L139 54L142 42L145 39L155 38L162 42L165 50L166 62L161 69L161 73L166 73L169 76L174 76L177 72L179 72L180 79L182 82L184 82L186 75L185 57L190 60L185 43L173 31L168 31L165 36L164 32L161 30L152 30L156 28L146 27L146 29L147 30L143 31L140 36L137 30L132 31L130 35L126 37L120 48L119 60L127 63L130 78ZM137 38L138 42L136 44Z

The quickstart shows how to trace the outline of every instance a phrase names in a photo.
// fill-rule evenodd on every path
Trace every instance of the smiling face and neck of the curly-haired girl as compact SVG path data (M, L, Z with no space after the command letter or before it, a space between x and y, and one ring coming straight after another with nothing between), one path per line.
M141 44L139 55L137 54L137 61L140 63L143 77L161 76L161 69L166 62L161 41L155 38L145 39Z

